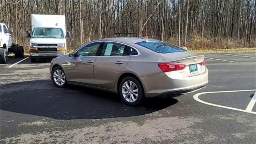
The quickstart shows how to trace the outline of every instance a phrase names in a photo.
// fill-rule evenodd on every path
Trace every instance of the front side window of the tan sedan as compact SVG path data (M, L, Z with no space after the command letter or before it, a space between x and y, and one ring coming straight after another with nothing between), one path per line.
M76 57L84 56L96 56L97 50L100 47L101 42L94 42L88 44L76 52Z

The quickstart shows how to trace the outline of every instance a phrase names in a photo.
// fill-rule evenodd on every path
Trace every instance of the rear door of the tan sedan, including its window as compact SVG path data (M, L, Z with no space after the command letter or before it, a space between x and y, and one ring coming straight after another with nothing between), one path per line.
M116 42L104 42L94 63L95 86L113 89L116 78L129 62L129 56L124 54L128 46Z

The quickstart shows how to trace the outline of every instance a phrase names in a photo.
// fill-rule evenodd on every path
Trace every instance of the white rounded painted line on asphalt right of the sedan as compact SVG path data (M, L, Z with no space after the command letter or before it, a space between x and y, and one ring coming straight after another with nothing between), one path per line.
M256 93L252 97L252 100L248 104L246 110L242 110L242 109L239 109L239 108L232 108L232 107L228 107L228 106L222 106L222 105L218 105L218 104L212 104L210 102L205 102L205 101L200 100L198 98L200 95L203 95L203 94L227 93L227 92L250 92L250 91L256 91L256 90L230 90L230 91L201 92L201 93L195 94L193 96L193 98L194 98L194 100L196 100L198 102L201 102L203 104L207 104L207 105L210 105L210 106L216 106L216 107L219 107L219 108L226 108L226 109L230 109L230 110L237 110L237 111L240 111L240 112L247 112L247 113L250 113L250 114L256 114L256 112L252 112L252 108L253 108L253 106L256 102Z

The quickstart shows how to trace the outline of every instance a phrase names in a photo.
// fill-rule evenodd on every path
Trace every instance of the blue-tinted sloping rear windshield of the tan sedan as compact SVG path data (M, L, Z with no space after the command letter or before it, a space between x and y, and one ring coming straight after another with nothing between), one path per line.
M172 53L172 52L187 51L178 46L168 44L166 42L160 42L160 41L152 41L152 42L143 41L143 42L137 42L136 44L143 46L145 48L148 48L150 50L153 50L154 52L158 52L158 53Z

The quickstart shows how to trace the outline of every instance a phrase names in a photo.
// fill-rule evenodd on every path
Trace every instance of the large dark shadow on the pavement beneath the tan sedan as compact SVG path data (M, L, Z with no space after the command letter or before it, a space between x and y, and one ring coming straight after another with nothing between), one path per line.
M62 120L138 116L178 102L174 98L148 98L134 108L123 104L117 94L80 86L56 88L51 80L7 84L0 91L1 110Z

